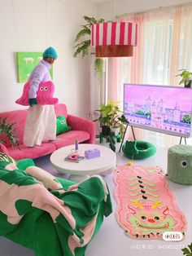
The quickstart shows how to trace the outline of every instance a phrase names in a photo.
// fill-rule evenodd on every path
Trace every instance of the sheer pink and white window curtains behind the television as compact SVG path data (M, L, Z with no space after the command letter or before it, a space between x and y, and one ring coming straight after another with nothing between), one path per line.
M113 91L113 98L109 94L109 99L122 103L125 82L177 86L178 70L192 70L192 3L119 20L137 22L138 46L134 47L133 57L109 60L109 91ZM137 130L136 137L163 147L170 147L180 139L150 130Z

